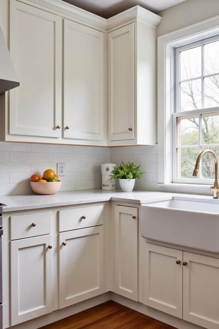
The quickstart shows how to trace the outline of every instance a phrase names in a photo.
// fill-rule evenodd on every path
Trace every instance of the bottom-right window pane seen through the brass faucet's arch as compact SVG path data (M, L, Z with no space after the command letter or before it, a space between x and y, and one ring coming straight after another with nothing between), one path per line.
M219 147L203 147L202 150L214 151L217 158L219 159ZM214 179L214 159L211 154L204 154L202 157L202 178Z

